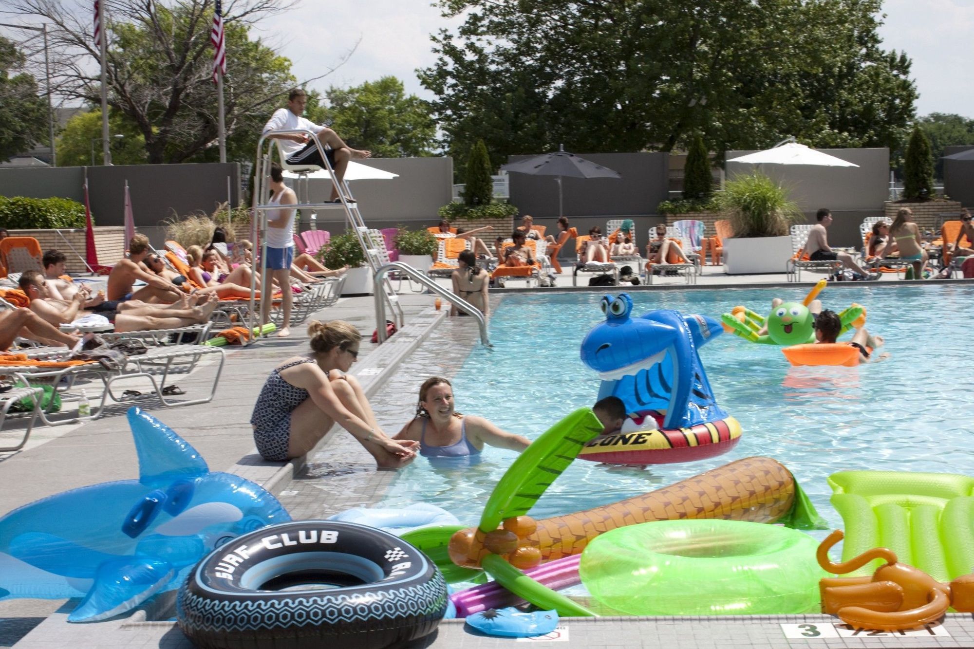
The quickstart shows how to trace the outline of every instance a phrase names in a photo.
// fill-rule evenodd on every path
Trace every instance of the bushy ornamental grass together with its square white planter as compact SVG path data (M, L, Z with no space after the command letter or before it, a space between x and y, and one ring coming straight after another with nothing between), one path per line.
M727 181L716 200L734 233L724 241L727 274L783 273L792 255L791 226L803 220L788 189L753 172Z

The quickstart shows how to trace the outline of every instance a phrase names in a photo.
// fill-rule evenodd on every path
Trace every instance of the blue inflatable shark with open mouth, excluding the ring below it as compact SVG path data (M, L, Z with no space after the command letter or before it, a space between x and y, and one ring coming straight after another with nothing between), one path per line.
M581 361L599 373L599 399L618 397L627 411L665 412L663 428L690 428L724 419L697 348L723 333L706 316L651 311L631 318L632 298L605 295L606 321L581 342Z

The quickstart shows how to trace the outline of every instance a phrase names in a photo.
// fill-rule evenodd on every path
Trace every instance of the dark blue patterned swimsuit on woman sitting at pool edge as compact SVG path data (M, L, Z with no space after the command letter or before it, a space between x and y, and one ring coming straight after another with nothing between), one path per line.
M287 444L291 437L291 412L308 399L308 391L296 388L281 377L281 370L315 363L313 359L301 359L271 370L260 396L253 406L250 424L257 451L265 460L281 462L287 459Z

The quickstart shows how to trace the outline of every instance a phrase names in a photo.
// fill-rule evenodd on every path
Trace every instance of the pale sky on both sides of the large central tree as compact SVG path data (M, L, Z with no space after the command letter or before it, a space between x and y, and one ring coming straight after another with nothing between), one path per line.
M974 118L974 0L885 0L882 11L884 48L906 51L913 59L917 114ZM358 43L344 65L309 85L313 89L393 75L407 93L430 99L414 70L436 60L430 34L460 22L442 18L430 0L304 0L268 20L265 36L280 44L299 79L323 73Z

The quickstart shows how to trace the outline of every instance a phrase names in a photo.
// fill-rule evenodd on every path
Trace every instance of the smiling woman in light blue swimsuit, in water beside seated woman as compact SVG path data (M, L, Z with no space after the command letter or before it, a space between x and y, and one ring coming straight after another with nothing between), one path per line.
M484 444L521 452L531 440L513 435L483 417L463 415L453 409L453 386L445 378L433 376L420 387L416 416L393 439L419 441L420 455L434 463L452 464L466 458L468 464L480 462Z

